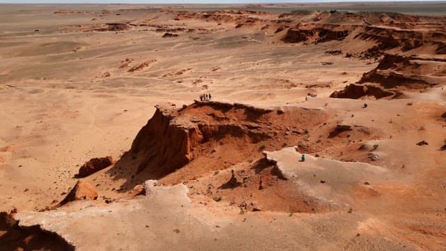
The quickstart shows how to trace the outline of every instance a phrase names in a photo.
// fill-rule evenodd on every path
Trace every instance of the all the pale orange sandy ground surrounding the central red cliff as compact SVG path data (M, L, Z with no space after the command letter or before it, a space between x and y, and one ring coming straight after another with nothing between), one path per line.
M433 55L432 44L387 52L417 54L423 67L429 58L428 70L416 74L433 76L433 88L402 89L402 98L393 100L328 98L374 70L379 60L326 52L362 52L371 40L358 42L353 33L342 43L284 43L286 31L276 32L275 13L259 14L265 23L236 28L238 21L176 18L178 13L170 10L74 8L9 6L0 12L0 211L16 208L21 225L41 225L79 250L446 249L446 158L439 150L446 139L440 117L446 111L445 54ZM60 9L68 12L54 13ZM98 31L112 27L107 23L129 25ZM420 25L423 32L435 28L428 21ZM439 26L444 30L444 21ZM159 28L164 30L155 31ZM191 30L165 30L178 28ZM163 38L169 32L179 36ZM298 162L301 149L280 150L284 138L278 137L277 144L268 142L266 155L289 179L277 181L270 194L249 186L248 192L221 191L222 202L213 201L215 194L206 193L208 183L222 185L231 169L239 175L251 164L240 160L226 168L224 162L218 174L206 167L209 157L161 178L165 187L148 187L146 197L131 200L116 192L128 180L111 178L106 169L86 179L100 196L116 199L112 204L80 201L37 212L63 199L87 160L107 155L119 160L155 105L189 105L202 93L220 102L323 112L328 126L308 128L302 138L310 149L309 168ZM351 135L327 139L337 123L367 128L371 135L355 128ZM287 140L283 146L300 143ZM429 144L417 146L422 140ZM364 143L377 146L378 160L357 151ZM259 151L253 159L261 156ZM199 179L187 176L194 168L206 172L197 172ZM290 186L321 203L302 207L313 206L316 213L292 210L296 205L286 199L277 207L268 204L268 196ZM249 193L263 208L275 210L240 213L231 200L239 203Z

